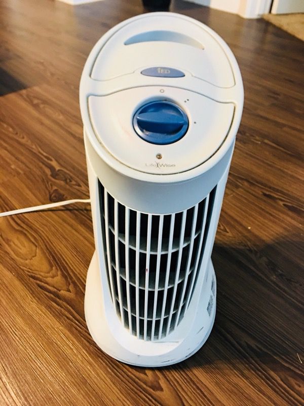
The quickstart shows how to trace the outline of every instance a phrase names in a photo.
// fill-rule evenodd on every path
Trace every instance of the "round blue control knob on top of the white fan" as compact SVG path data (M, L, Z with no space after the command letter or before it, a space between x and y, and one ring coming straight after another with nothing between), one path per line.
M151 101L141 106L133 117L133 126L143 140L158 145L180 140L189 125L185 112L171 101Z

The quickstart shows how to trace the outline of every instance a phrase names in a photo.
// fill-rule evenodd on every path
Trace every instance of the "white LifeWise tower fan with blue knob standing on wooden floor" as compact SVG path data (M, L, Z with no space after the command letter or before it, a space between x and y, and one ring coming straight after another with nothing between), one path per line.
M243 98L230 48L179 14L130 18L87 59L80 105L96 251L85 315L120 361L173 364L210 334L211 251Z

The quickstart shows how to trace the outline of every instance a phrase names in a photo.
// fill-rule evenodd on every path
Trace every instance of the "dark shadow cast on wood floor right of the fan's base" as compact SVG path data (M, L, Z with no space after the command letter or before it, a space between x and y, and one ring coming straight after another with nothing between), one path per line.
M296 235L260 247L216 243L217 310L211 334L190 358L158 369L207 372L223 364L280 375L293 368L298 379L304 341L300 246Z

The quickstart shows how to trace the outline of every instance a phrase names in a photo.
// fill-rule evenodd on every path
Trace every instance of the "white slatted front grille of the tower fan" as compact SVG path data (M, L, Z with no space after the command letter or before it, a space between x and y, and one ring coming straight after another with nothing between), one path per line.
M123 325L156 341L182 320L203 258L216 187L197 205L170 215L120 204L99 182L102 244L111 298Z

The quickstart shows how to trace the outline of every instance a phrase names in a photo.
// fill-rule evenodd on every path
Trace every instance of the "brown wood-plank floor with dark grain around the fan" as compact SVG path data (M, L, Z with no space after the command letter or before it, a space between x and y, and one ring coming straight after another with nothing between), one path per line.
M240 64L245 107L213 262L215 325L170 367L121 364L84 318L89 205L0 219L1 405L303 404L304 46L264 20L175 1ZM90 49L140 0L0 3L0 211L89 196L78 88Z

